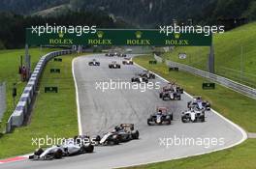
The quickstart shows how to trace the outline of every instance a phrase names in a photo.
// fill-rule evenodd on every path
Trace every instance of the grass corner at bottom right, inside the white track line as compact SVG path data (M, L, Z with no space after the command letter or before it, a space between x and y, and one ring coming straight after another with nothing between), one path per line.
M248 139L239 146L211 153L171 161L129 167L129 169L254 169L256 139Z

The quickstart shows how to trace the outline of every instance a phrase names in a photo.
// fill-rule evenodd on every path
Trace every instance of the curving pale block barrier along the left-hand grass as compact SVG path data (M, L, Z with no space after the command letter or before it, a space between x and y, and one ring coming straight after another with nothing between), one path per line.
M32 72L23 93L16 104L16 109L10 116L6 124L6 132L11 132L14 127L20 127L24 123L24 119L28 113L31 101L35 96L36 87L38 85L42 71L46 67L48 61L56 56L71 54L72 50L54 51L42 56Z

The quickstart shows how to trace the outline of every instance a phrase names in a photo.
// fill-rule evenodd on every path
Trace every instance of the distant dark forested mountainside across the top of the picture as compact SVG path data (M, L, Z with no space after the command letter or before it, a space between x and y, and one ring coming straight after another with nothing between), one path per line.
M1 0L0 12L52 15L55 14L55 7L57 14L65 13L66 8L58 8L63 5L75 12L112 14L147 28L171 24L173 19L187 22L188 18L192 18L194 23L203 24L216 24L218 18L256 19L255 0Z

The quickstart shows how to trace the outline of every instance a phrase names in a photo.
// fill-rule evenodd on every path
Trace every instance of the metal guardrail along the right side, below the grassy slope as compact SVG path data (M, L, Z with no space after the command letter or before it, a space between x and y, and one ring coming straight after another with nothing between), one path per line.
M159 56L154 55L154 58L159 59ZM208 71L198 70L193 67L190 67L184 64L179 64L173 61L166 60L165 63L168 67L176 67L179 70L188 71L190 73L205 77L210 81L213 81L222 86L228 87L236 92L239 92L242 95L245 95L252 99L256 99L256 89L240 84L239 82L233 81L231 79L228 79L226 77L223 77L217 74L210 73Z

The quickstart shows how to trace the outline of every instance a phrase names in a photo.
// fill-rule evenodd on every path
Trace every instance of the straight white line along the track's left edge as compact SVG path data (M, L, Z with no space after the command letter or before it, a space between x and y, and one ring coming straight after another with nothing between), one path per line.
M78 84L75 76L75 70L74 70L74 62L77 58L74 58L72 60L72 74L75 82L75 87L76 87L76 101L77 101L77 109L78 109L78 124L79 124L79 134L82 135L82 128L81 128L81 122L80 122L80 97L79 97L79 89L78 89Z

